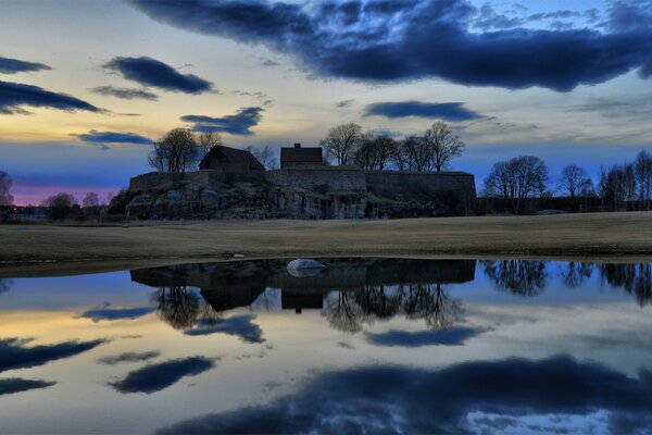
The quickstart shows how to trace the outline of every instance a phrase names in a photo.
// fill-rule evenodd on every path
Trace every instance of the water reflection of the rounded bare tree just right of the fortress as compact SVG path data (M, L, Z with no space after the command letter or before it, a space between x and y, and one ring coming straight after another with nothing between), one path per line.
M499 290L521 296L537 296L546 287L546 262L532 260L482 261L485 275Z

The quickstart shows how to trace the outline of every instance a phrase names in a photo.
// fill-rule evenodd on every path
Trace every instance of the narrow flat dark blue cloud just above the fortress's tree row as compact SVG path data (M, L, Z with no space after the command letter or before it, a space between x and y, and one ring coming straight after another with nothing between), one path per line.
M481 117L479 113L468 110L462 102L377 102L365 108L366 116L386 117L418 116L446 121L471 121Z

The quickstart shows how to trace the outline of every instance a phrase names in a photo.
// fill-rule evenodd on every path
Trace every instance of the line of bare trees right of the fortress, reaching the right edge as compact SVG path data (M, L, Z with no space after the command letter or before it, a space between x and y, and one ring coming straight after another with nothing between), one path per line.
M484 195L513 201L519 210L527 198L569 198L572 201L599 198L602 210L652 209L652 154L640 151L632 162L601 167L597 183L576 164L565 166L551 179L543 160L518 156L493 164L485 178Z

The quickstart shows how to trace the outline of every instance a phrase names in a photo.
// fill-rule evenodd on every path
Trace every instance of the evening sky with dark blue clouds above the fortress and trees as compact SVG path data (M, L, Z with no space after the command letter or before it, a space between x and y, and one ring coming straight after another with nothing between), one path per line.
M444 121L478 187L519 154L554 178L652 151L652 1L2 0L0 38L17 204L117 191L175 127L278 149Z

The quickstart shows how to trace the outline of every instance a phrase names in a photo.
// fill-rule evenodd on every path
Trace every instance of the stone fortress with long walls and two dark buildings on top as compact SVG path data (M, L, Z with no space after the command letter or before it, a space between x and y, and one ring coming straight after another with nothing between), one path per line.
M138 219L361 219L465 215L476 191L469 173L330 166L322 148L294 144L275 170L217 146L199 171L133 177L127 197L124 209Z

